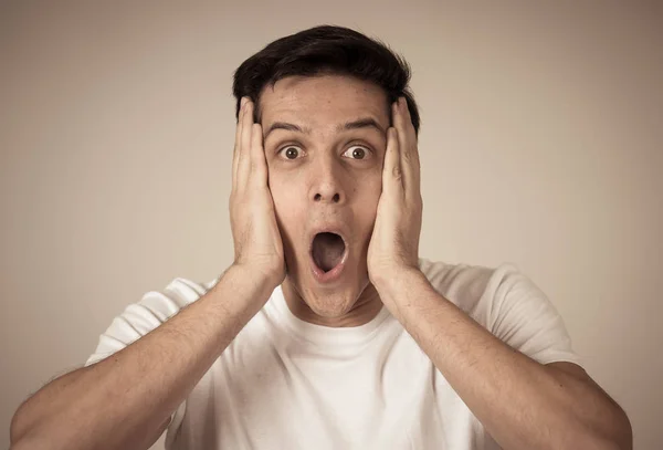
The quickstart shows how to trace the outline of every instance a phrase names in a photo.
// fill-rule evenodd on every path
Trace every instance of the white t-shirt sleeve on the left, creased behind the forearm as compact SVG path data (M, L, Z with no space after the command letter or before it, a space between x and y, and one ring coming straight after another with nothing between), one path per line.
M96 364L122 350L140 337L176 315L181 308L204 295L208 286L185 279L176 279L162 291L146 293L138 303L128 305L113 320L110 326L99 336L94 353L85 362L85 367ZM170 416L182 416L186 401ZM181 420L176 420L179 422Z

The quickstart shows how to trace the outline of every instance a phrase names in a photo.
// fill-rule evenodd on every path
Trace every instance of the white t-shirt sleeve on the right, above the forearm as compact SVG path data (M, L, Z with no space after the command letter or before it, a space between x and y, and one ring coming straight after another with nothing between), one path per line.
M480 303L488 305L488 331L511 347L540 364L582 365L555 305L514 265L493 272Z

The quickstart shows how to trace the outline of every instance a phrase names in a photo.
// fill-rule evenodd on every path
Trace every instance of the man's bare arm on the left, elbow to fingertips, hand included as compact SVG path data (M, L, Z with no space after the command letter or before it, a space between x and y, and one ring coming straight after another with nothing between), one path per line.
M12 450L148 449L157 440L172 412L285 278L262 143L249 104L240 115L233 157L233 266L175 316L158 325L141 321L150 325L130 326L140 334L137 341L116 329L114 341L126 346L113 357L52 380L23 402L10 426ZM169 311L171 302L164 307Z

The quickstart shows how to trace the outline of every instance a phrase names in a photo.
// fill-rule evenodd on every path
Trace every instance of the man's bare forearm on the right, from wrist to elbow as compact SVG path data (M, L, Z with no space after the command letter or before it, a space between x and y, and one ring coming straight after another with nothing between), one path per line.
M600 388L514 350L420 272L390 280L380 296L503 448L619 448L624 416Z

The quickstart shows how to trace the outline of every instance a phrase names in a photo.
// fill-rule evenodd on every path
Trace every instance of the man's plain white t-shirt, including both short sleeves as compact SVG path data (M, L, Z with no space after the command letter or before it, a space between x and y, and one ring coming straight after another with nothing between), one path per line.
M511 264L421 260L435 290L533 359L580 364L546 295ZM147 334L217 282L176 279L129 305L86 365ZM173 414L169 450L498 449L386 307L334 328L292 314L277 287Z

